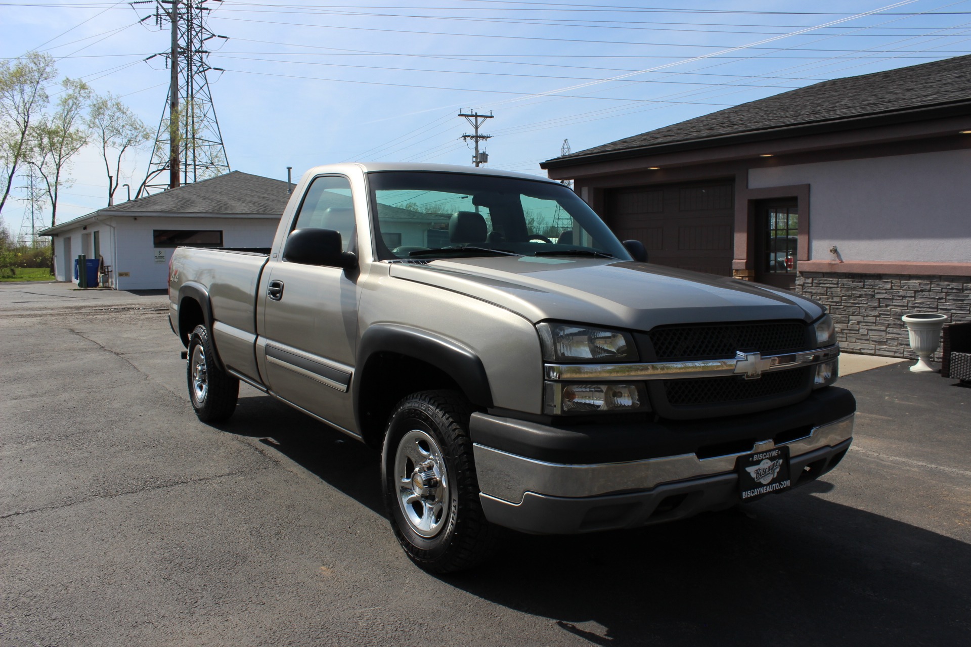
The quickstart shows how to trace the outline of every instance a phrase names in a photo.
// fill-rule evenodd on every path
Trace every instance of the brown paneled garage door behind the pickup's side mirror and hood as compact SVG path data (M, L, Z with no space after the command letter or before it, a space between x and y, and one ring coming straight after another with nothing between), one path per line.
M605 197L607 224L621 241L644 243L652 263L731 275L731 180L612 189Z

